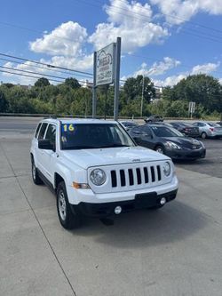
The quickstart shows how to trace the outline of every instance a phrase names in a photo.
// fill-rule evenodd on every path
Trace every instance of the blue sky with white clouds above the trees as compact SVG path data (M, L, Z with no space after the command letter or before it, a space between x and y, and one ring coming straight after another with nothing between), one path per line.
M67 76L90 79L85 73L92 73L93 52L121 36L123 80L140 74L166 86L206 73L222 82L221 25L222 0L4 1L0 81L34 84L36 78L28 76L41 75L53 84Z

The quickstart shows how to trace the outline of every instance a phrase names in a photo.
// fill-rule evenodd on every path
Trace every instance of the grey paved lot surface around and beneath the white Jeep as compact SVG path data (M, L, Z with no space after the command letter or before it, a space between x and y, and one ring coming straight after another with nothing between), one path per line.
M160 211L67 231L55 196L31 180L32 126L1 120L0 295L222 295L222 140L204 141L206 159L176 164L178 198Z

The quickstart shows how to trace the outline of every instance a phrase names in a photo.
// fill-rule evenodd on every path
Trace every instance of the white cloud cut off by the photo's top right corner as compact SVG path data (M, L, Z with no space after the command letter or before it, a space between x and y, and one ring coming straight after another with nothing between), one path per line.
M170 24L181 24L198 12L222 14L221 0L150 0L156 4Z

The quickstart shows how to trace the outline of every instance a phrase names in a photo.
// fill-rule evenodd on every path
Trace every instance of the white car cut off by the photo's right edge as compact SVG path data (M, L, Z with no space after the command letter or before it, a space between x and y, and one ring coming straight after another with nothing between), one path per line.
M202 139L222 138L222 126L210 122L197 121L193 124L199 128Z

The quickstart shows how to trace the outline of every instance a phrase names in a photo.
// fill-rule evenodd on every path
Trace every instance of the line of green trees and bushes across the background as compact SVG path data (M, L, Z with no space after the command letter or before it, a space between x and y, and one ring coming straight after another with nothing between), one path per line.
M195 117L222 113L222 86L218 79L207 75L188 76L172 87L163 88L161 100L149 77L130 77L120 89L120 116L187 117L188 103L196 103ZM0 85L0 113L28 113L91 116L91 89L82 87L75 78L53 85L40 78L30 88ZM141 102L143 108L141 110ZM97 116L113 116L114 87L97 88Z

